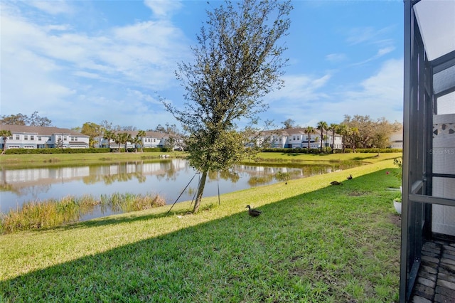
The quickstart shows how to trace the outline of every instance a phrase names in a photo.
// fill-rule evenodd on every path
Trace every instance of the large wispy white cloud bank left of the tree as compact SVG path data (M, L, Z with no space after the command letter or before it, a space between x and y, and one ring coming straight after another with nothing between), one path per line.
M52 11L51 3L33 5L49 14L70 11L63 3ZM38 110L60 127L77 126L81 119L121 121L126 112L137 118L129 123L137 127L171 121L147 91L178 86L173 70L190 43L172 23L143 21L83 33L21 9L2 4L2 115ZM141 95L130 87L140 88ZM151 119L158 111L159 118Z

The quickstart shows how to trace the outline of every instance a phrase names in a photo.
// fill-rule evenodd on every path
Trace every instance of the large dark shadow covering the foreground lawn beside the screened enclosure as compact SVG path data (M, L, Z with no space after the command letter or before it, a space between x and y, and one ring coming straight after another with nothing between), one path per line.
M379 171L343 184L261 206L257 218L245 211L1 281L0 301L390 301L400 229L378 189L390 179ZM173 214L75 227L161 216Z

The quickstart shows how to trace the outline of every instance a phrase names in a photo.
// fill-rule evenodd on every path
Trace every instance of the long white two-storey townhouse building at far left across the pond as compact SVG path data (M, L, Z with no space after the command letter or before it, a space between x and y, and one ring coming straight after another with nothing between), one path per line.
M86 149L89 137L71 129L58 127L32 127L27 125L0 125L0 130L9 130L6 149L72 148ZM3 149L4 139L0 137Z

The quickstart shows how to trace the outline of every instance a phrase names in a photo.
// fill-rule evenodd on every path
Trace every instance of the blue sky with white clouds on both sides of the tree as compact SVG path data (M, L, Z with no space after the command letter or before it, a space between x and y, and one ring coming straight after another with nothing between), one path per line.
M174 71L220 1L0 1L0 115L38 111L57 127L177 124ZM344 115L402 122L403 2L294 1L285 87L262 119L302 127ZM179 127L179 125L178 125Z

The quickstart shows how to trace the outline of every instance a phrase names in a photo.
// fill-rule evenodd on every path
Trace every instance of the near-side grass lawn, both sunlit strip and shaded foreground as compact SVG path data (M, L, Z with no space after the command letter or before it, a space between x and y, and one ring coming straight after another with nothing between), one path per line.
M395 302L394 156L204 198L196 215L183 202L0 235L0 302Z

